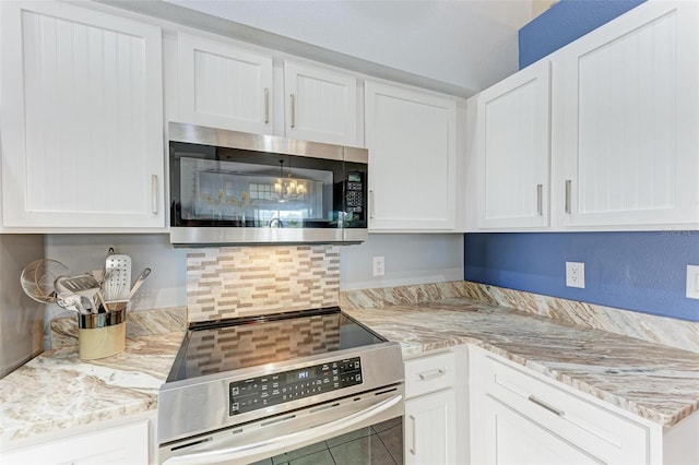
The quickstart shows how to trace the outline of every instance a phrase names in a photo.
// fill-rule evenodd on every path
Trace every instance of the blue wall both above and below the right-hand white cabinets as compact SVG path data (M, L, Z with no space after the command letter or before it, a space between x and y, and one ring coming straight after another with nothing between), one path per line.
M561 0L520 31L522 67L638 5L640 0ZM566 287L565 263L585 263L585 288ZM644 313L699 321L685 297L699 265L699 231L467 234L464 278Z

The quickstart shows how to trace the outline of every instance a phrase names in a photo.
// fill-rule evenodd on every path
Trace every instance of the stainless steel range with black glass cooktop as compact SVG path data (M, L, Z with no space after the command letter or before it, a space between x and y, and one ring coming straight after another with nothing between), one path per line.
M403 381L400 345L337 308L193 323L158 395L159 461L250 463L401 420Z

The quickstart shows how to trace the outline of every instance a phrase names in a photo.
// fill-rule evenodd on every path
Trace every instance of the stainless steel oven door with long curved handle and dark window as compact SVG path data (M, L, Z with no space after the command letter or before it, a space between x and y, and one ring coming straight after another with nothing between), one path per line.
M159 448L163 464L401 464L403 384Z

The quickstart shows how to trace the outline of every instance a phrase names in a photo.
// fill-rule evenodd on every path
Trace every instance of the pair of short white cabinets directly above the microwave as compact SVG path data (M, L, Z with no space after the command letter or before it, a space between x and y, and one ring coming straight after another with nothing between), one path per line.
M353 75L284 60L275 82L272 55L183 33L177 49L180 122L362 145Z

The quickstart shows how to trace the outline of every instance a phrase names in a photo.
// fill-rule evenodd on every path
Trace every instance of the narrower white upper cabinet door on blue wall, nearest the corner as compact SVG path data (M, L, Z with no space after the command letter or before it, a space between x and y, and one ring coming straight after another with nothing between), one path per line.
M477 97L477 227L548 226L549 62Z

